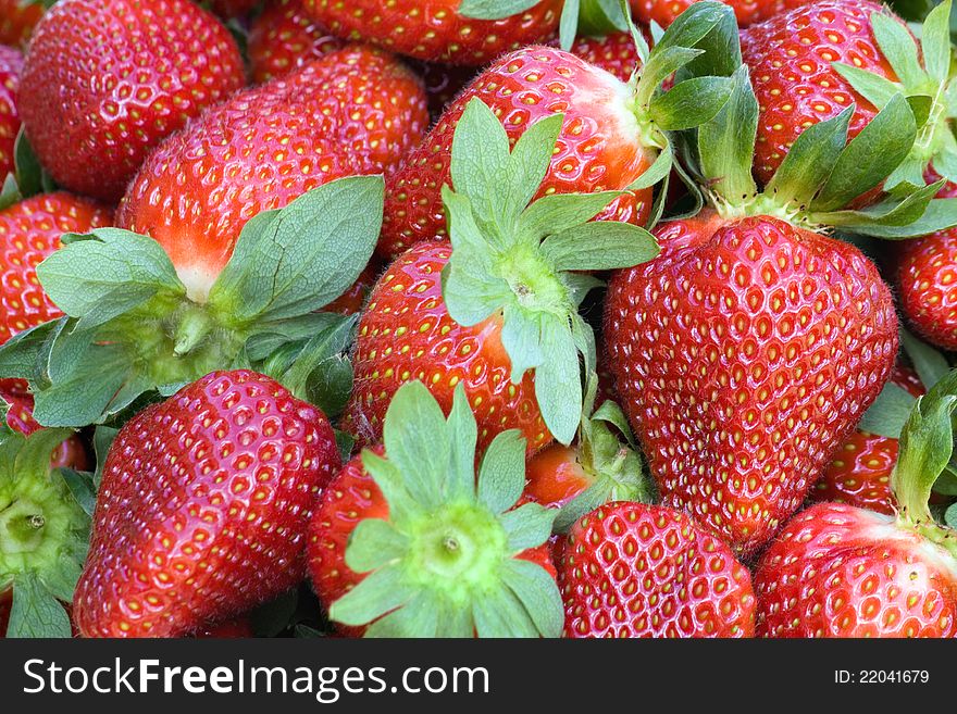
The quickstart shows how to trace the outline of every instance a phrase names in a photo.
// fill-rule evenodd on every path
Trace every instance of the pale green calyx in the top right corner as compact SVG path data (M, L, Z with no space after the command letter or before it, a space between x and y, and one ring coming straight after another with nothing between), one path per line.
M853 65L832 63L834 70L879 110L902 95L913 111L917 136L910 152L887 177L888 189L905 181L922 186L928 167L957 181L957 139L954 137L957 82L950 76L950 4L947 0L930 12L921 27L919 43L897 20L884 13L871 13L878 47L897 75L897 82Z

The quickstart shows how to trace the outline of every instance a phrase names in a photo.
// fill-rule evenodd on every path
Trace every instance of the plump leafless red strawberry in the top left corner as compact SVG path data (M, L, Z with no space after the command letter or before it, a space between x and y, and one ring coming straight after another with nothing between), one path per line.
M61 0L37 25L18 108L61 186L116 201L160 141L245 84L228 30L187 0Z

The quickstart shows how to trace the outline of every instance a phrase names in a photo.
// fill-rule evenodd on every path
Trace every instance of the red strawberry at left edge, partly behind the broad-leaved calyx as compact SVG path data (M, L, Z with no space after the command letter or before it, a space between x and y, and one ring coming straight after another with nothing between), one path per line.
M36 266L64 233L112 224L112 213L65 192L44 193L0 211L0 343L61 313L37 280Z

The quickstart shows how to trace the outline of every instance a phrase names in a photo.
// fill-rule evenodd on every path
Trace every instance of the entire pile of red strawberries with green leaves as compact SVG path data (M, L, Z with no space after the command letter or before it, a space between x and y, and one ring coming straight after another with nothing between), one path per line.
M950 0L728 2L0 0L0 632L957 637Z

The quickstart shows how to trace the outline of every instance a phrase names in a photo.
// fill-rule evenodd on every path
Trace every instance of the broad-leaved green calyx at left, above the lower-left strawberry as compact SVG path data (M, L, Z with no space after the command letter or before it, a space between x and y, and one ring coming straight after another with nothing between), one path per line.
M294 375L298 396L322 402L318 385L338 390L345 374L341 355L328 350L346 348L321 335L334 329L340 337L346 321L315 311L348 289L369 262L383 191L381 176L341 178L257 215L208 295L187 291L149 237L119 228L64 236L64 247L37 275L65 317L0 347L0 375L29 380L41 424L78 427L214 369L264 368L282 350L309 355L321 369ZM291 366L271 374L282 378Z

